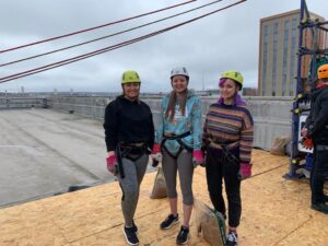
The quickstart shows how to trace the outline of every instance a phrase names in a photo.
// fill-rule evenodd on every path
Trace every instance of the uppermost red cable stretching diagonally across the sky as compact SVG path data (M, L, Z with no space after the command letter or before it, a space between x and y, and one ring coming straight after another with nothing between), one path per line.
M171 5L171 7L166 7L166 8L160 9L160 10L155 10L155 11L151 11L151 12L148 12L148 13L139 14L139 15L136 15L136 16L132 16L132 17L127 17L127 19L124 19L124 20L120 20L120 21L109 22L107 24L98 25L98 26L95 26L95 27L86 28L86 30L77 31L77 32L73 32L73 33L70 33L70 34L66 34L66 35L57 36L57 37L51 37L51 38L34 42L34 43L31 43L31 44L27 44L27 45L16 46L16 47L9 48L9 49L3 49L3 50L0 50L0 54L12 51L12 50L15 50L15 49L25 48L25 47L33 46L33 45L38 45L38 44L50 42L50 40L56 40L56 39L59 39L59 38L62 38L62 37L69 37L69 36L72 36L72 35L80 34L80 33L85 33L85 32L90 32L90 31L93 31L93 30L102 28L102 27L105 27L105 26L108 26L108 25L114 25L114 24L117 24L117 23L130 21L130 20L133 20L133 19L147 16L147 15L150 15L150 14L162 12L164 10L169 10L169 9L173 9L173 8L176 8L176 7L179 7L179 5L188 4L188 3L195 2L195 1L197 1L197 0L189 0L187 2L178 3L178 4L175 4L175 5Z

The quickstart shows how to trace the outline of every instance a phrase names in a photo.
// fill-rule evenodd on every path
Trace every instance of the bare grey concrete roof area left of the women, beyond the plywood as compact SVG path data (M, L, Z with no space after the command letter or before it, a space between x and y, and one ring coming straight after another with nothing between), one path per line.
M0 110L0 207L113 179L102 121L49 109Z

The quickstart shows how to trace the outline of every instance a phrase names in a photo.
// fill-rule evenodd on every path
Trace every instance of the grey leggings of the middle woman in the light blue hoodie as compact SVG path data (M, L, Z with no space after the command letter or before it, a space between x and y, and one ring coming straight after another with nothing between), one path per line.
M166 181L166 190L168 198L177 198L176 192L176 175L179 172L180 188L183 192L184 204L191 206L192 197L192 153L184 150L177 159L172 157L163 150L163 172Z

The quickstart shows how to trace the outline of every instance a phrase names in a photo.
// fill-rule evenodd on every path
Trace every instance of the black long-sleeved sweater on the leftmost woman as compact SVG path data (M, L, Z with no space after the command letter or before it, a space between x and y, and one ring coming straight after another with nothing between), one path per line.
M144 142L153 148L153 117L150 107L142 101L131 102L118 96L110 102L105 109L104 129L107 151L114 151L119 142Z

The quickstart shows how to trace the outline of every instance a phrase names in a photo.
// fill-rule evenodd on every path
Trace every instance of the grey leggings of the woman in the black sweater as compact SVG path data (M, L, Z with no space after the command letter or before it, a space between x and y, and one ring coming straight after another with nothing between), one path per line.
M149 156L142 155L136 162L122 159L125 178L118 175L118 181L122 190L121 210L125 216L126 226L133 225L133 216L138 204L140 184L144 176Z

